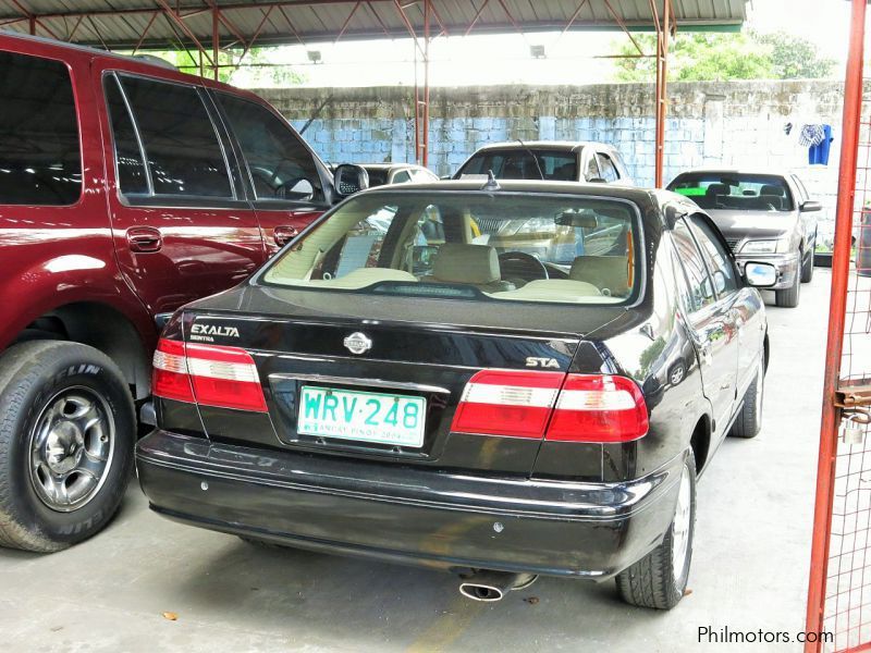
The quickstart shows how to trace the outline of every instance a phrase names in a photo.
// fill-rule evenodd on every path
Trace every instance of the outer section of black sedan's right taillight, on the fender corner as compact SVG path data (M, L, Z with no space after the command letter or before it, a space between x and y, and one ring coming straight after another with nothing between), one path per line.
M610 374L568 374L545 439L630 442L647 431L647 405L635 381Z

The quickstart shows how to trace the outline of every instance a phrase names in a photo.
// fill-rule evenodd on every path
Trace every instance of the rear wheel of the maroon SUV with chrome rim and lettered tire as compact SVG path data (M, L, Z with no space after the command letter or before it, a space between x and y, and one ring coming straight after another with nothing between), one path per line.
M89 403L96 417L81 419L96 426L79 428L81 439L64 449L68 453L48 456L60 468L51 468L58 479L66 475L42 485L65 488L63 501L52 507L50 497L45 498L48 491L38 491L35 480L45 478L49 466L34 460L44 449L60 449L32 448L32 436L36 440L39 433L48 433L48 441L52 433L62 432L63 424L73 421L75 402L82 397L87 399L78 405L82 414L90 415L85 410ZM58 423L61 427L48 428ZM100 531L124 496L135 438L133 398L121 370L105 354L60 341L10 347L0 357L0 545L50 553ZM102 471L74 467L70 472L65 466L76 459L96 460L95 469Z

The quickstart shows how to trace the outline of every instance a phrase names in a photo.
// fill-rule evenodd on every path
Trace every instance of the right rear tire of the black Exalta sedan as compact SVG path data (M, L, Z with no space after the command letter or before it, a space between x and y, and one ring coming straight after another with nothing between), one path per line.
M696 531L696 458L687 453L684 473L689 482L689 525L686 554L677 565L673 560L675 545L675 518L659 546L640 560L617 574L617 593L630 605L671 609L677 605L687 589L692 559L692 537Z

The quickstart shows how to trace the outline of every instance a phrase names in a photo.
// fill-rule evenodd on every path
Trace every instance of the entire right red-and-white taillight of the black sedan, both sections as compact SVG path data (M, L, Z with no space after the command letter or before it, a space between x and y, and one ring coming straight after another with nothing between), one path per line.
M483 370L466 384L451 430L564 442L630 442L647 434L641 390L611 374Z

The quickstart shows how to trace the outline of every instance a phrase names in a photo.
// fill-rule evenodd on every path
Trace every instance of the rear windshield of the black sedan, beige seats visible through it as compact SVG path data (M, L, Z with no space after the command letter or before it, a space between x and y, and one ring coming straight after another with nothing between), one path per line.
M502 192L354 197L262 280L311 289L474 300L621 304L641 251L635 205Z

